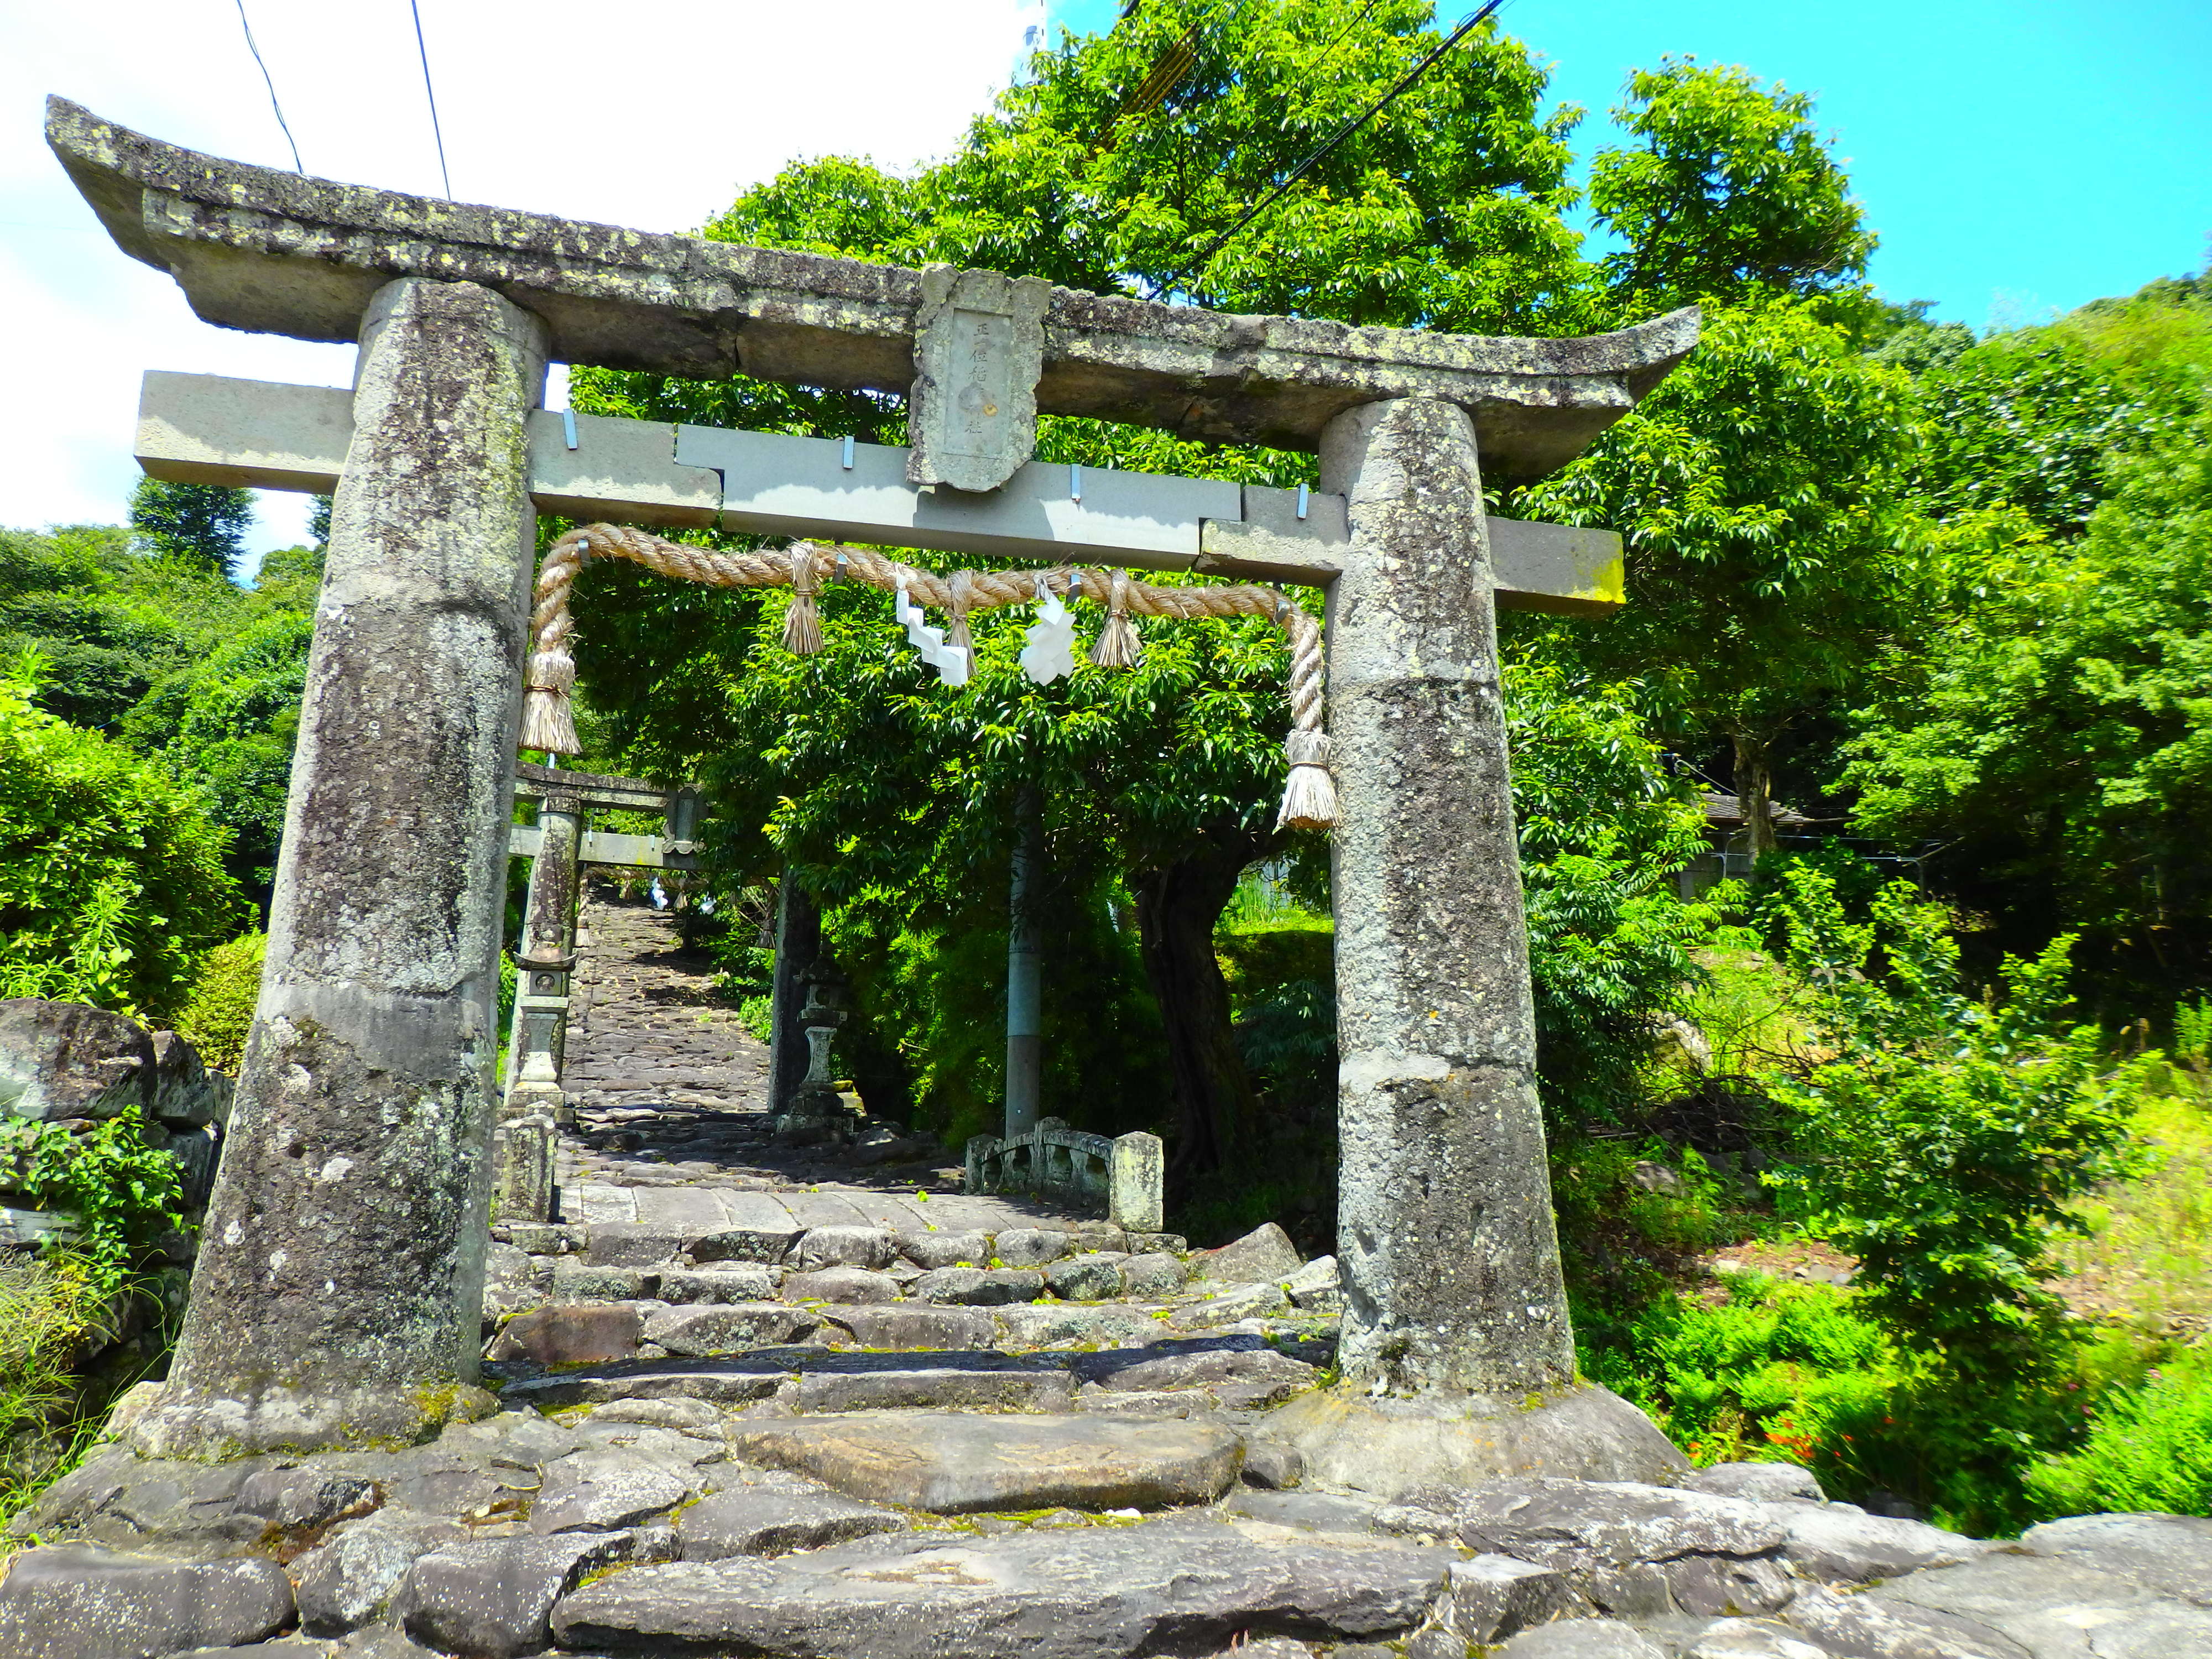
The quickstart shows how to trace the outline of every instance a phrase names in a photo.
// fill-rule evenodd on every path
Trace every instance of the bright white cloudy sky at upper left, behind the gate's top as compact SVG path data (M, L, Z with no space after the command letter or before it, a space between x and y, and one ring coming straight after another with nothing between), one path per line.
M1035 0L420 0L453 195L690 230L810 155L911 168L1006 84ZM438 192L407 0L246 0L310 173ZM97 228L40 137L62 93L215 155L290 166L232 0L11 7L0 22L0 524L113 522L144 369L343 385L352 349L237 334ZM299 540L263 498L257 549Z

